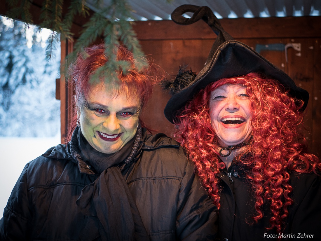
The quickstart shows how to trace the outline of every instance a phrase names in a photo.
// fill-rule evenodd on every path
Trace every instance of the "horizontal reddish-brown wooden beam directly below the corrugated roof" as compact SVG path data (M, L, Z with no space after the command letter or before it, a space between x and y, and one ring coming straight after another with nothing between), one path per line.
M235 38L321 37L321 16L220 19L225 31ZM213 39L216 35L203 21L182 26L171 20L136 21L138 39Z

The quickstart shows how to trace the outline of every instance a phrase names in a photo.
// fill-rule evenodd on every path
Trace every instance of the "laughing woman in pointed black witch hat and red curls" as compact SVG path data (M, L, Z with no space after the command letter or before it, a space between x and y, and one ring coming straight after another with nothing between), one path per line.
M219 33L197 75L165 83L174 94L164 112L219 208L220 240L320 240L321 163L299 132L308 92L233 40L209 8L183 5L172 19Z

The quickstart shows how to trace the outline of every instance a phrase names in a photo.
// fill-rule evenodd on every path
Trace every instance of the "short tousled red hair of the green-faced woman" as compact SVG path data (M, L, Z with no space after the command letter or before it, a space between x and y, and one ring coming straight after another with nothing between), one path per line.
M116 45L116 61L127 62L129 68L124 72L119 68L115 71L117 78L113 78L114 73L109 73L111 78L105 78L103 75L104 67L108 64L108 58L105 54L105 44L94 45L84 49L84 53L78 53L74 65L69 69L70 81L74 84L75 98L74 118L68 127L68 137L66 141L71 139L74 128L76 127L77 114L76 109L80 108L84 100L88 98L91 85L100 84L102 82L113 82L118 86L118 93L128 90L129 93L138 95L142 102L142 107L152 96L153 87L164 77L163 70L152 63L152 61L141 57L145 66L138 68L137 60L133 53L122 45ZM107 68L108 70L108 68ZM117 95L117 93L115 93ZM143 121L140 119L142 125Z

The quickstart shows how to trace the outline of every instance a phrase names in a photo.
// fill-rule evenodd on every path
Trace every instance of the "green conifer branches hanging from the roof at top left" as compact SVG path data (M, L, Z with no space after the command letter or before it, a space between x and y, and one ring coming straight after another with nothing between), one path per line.
M98 38L103 38L106 45L106 56L109 61L107 66L104 66L105 70L113 71L121 68L126 72L128 64L116 60L114 45L120 43L133 51L138 68L146 65L139 57L143 56L143 52L132 29L132 22L128 21L133 17L131 16L132 10L126 0L43 0L39 31L42 28L52 30L46 49L47 60L54 57L53 50L56 49L60 38L73 39L71 31L73 20L80 15L89 16L88 3L91 4L91 8L95 11L90 16L89 21L83 25L83 31L74 44L74 53L68 56L65 61L66 66L62 66L62 69L68 69L66 67L74 61L75 53L81 51L84 47L90 46ZM6 14L7 17L21 19L26 22L26 28L29 27L29 23L33 23L33 16L30 13L32 0L6 0L6 4L9 9ZM64 7L67 4L69 4L67 12L63 14Z

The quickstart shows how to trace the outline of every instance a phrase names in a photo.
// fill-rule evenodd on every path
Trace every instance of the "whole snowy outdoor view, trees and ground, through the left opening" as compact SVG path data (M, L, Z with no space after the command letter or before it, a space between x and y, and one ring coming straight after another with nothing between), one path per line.
M50 33L0 16L0 218L25 165L60 143L60 43L48 62Z

